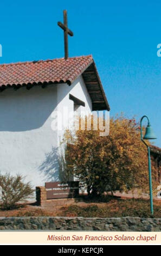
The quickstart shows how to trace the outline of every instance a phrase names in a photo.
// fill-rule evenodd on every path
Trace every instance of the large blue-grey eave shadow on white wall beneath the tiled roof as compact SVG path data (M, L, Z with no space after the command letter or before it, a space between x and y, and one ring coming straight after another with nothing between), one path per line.
M8 88L1 93L0 131L30 131L46 122L56 108L56 87L27 90L20 88L16 92Z

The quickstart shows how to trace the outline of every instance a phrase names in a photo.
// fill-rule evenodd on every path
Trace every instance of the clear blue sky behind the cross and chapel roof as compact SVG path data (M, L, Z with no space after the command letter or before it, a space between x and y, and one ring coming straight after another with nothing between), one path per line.
M0 63L64 56L57 21L68 11L69 56L92 54L111 115L148 115L161 147L161 2L7 1L1 3ZM146 125L146 121L145 121Z

